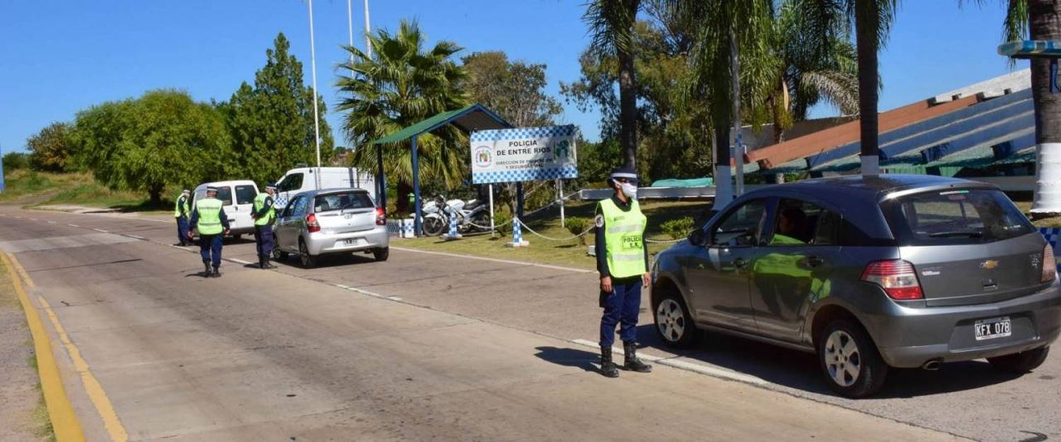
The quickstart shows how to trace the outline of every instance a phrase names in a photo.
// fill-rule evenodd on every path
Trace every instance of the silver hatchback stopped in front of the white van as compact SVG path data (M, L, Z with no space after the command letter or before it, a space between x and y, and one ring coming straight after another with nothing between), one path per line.
M277 215L273 255L296 253L303 267L324 254L364 252L376 261L390 254L386 216L364 189L302 192Z

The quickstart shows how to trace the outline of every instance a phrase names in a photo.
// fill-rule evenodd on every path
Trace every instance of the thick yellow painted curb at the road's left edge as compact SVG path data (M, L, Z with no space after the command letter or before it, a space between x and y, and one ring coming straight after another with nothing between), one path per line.
M10 258L8 258L10 257ZM15 286L18 300L22 303L22 311L25 312L25 322L30 326L30 334L33 336L33 351L37 355L37 372L40 376L40 389L44 391L45 405L48 408L48 419L52 421L52 428L55 430L57 442L77 442L85 440L81 423L73 412L73 405L67 397L63 388L63 379L59 378L59 368L55 364L55 356L52 354L52 346L48 339L48 332L45 331L45 323L37 314L37 307L30 301L22 282L15 272L15 257L7 253L0 253L7 267L7 275L11 275L11 283Z

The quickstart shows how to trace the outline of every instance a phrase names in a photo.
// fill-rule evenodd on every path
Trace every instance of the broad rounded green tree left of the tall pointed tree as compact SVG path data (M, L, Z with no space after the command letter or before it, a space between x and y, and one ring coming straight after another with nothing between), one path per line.
M155 90L81 111L71 141L97 180L146 192L155 205L168 185L224 179L232 171L223 117L182 91Z

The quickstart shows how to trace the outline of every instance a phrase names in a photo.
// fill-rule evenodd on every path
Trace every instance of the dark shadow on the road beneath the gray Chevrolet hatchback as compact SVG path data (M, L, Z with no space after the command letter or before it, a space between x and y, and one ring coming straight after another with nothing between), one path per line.
M692 349L676 351L660 341L655 324L640 325L638 336L649 349L657 348L797 390L834 394L821 377L817 357L810 353L718 333L705 333ZM995 371L985 360L944 364L937 371L892 369L884 389L873 397L927 396L987 387L1017 377L1020 375Z

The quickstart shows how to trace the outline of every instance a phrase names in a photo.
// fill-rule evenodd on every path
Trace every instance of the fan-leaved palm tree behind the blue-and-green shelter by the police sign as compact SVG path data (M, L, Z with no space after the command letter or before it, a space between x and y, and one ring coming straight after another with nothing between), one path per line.
M375 171L372 140L460 108L467 98L459 87L464 69L454 60L463 48L456 43L439 41L425 50L427 38L419 25L406 20L401 21L397 34L380 30L368 39L371 56L350 46L344 48L352 59L340 65L335 85L344 96L337 109L346 112L343 129L353 149L353 165ZM421 177L447 187L459 184L468 169L464 140L453 126L420 136L417 154ZM398 182L397 205L402 213L408 212L403 196L413 190L411 147L407 140L383 147L383 170Z

